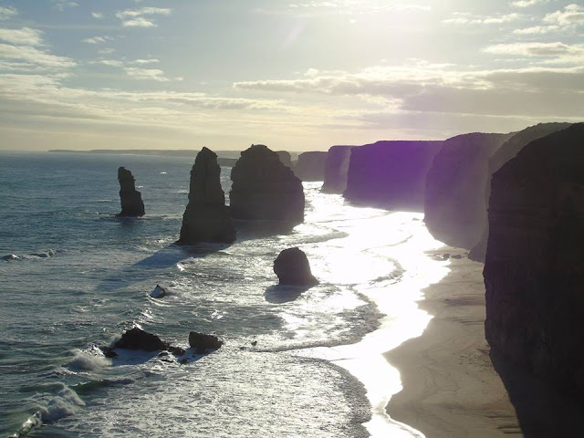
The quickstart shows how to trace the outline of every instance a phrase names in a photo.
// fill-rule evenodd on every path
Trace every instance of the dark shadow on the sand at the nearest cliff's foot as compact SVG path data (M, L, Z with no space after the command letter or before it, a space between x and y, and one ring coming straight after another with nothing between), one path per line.
M525 438L584 436L584 403L553 382L534 376L494 349L490 358L503 381Z

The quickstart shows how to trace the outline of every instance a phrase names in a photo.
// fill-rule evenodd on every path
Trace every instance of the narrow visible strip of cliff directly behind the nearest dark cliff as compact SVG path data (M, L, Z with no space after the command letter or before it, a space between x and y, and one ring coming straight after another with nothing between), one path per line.
M565 130L569 125L569 123L539 123L535 126L530 126L525 130L520 130L513 137L503 143L503 145L495 151L489 159L489 175L485 183L485 203L488 203L489 196L491 195L491 175L493 175L493 173L498 171L503 164L515 157L517 152L521 151L521 149L531 141L545 137L557 130ZM485 261L486 241L489 235L486 216L487 212L485 208L485 227L483 228L483 234L481 235L479 242L474 245L468 255L472 260L480 262Z

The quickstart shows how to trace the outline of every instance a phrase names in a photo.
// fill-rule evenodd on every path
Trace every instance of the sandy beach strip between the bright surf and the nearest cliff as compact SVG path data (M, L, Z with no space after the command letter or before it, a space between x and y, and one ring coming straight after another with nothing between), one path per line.
M433 316L422 336L384 354L401 375L402 391L386 406L392 419L429 438L524 436L485 340L483 264L445 246L450 273L422 290L419 308Z

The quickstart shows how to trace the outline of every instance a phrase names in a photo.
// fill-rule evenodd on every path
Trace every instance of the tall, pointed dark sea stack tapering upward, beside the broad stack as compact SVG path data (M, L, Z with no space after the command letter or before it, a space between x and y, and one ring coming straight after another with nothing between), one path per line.
M191 169L189 203L183 214L177 244L200 242L230 244L235 241L234 221L221 188L221 168L214 151L203 148Z

